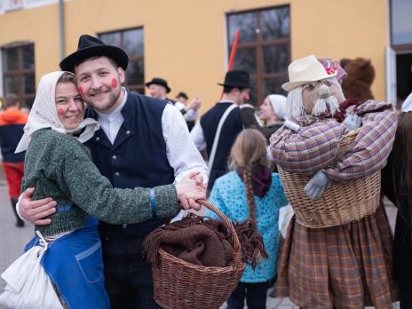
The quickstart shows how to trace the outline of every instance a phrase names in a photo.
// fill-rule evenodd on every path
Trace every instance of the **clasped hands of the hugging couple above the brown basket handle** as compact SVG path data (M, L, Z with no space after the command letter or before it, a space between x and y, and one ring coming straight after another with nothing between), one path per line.
M176 184L178 201L185 210L200 210L202 205L196 200L206 199L206 185L202 183L200 171L193 171Z

